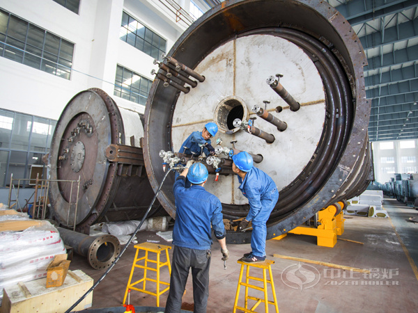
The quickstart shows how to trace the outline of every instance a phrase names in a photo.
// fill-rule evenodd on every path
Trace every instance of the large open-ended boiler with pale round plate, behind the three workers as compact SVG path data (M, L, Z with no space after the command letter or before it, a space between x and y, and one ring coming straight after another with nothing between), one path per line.
M371 170L366 62L350 24L328 3L224 1L183 33L163 61L165 70L160 66L160 74L167 77L169 67L197 85L178 89L160 76L150 90L144 160L151 186L155 191L164 176L160 150L178 152L192 131L215 122L212 143L222 138L231 149L261 155L255 166L279 187L268 239L359 193ZM287 127L256 114L265 111ZM222 201L224 218L246 216L238 179L226 167L219 173L206 188ZM173 179L158 199L174 217ZM247 243L250 235L231 232L227 240Z

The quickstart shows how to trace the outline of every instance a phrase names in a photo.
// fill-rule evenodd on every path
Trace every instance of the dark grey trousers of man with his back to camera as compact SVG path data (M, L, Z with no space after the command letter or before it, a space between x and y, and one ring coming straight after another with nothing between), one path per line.
M209 296L208 250L195 250L174 246L171 262L169 298L165 313L177 313L181 310L189 268L192 268L194 312L206 312Z

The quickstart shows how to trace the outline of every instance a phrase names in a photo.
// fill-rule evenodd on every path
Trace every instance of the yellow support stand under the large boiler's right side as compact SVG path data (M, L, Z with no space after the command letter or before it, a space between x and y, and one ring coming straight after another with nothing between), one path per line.
M341 207L341 212L336 214L336 207ZM336 236L341 236L344 232L343 202L332 204L329 207L318 212L318 227L299 226L289 231L291 234L304 234L316 236L318 246L333 248L336 244ZM274 239L281 239L284 236L278 236Z

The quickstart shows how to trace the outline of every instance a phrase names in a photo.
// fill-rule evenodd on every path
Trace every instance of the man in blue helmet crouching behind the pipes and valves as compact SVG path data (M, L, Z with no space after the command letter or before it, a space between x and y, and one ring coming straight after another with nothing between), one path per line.
M214 122L206 123L202 131L193 131L192 134L187 137L178 152L199 157L203 147L203 152L205 152L206 157L215 154L215 148L210 144L210 138L216 135L217 130L218 127Z

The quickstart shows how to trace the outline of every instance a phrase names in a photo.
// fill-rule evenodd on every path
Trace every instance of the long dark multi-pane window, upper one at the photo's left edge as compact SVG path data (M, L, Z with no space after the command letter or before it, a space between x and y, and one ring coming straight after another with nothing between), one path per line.
M0 9L0 56L70 79L74 44Z

